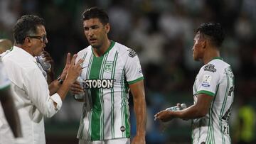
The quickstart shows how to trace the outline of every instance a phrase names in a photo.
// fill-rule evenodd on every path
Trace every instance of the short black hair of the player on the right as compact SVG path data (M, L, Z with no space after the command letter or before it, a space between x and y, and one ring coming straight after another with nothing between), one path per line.
M213 42L213 45L220 47L225 38L225 34L220 23L202 23L196 30L196 33L208 35Z

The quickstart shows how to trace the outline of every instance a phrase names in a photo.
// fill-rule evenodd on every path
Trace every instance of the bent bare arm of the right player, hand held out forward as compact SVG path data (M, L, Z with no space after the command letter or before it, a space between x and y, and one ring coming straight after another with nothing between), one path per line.
M208 113L211 101L213 101L213 96L209 96L208 94L198 94L198 101L196 104L193 104L182 111L160 111L159 113L156 113L155 118L164 122L171 121L173 118L182 118L186 120L201 118Z

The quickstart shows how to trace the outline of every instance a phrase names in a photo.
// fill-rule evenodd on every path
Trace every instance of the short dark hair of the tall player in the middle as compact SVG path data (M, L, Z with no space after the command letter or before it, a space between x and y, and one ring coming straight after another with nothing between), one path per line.
M107 12L97 7L87 9L82 13L83 21L89 20L90 18L99 18L100 22L103 25L109 23L109 17L107 16Z

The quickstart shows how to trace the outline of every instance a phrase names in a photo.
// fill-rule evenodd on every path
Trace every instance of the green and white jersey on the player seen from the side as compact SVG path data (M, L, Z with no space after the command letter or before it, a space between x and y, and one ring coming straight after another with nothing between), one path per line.
M234 99L234 74L230 65L215 57L201 67L193 85L195 104L198 94L208 94L214 98L207 115L193 119L193 143L231 143L228 119Z

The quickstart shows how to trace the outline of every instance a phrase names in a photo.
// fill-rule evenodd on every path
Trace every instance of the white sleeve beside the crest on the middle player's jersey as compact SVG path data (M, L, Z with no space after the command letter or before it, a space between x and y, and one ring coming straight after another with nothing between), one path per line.
M142 74L142 67L139 62L139 57L137 53L132 50L127 50L127 60L125 62L125 74L128 84L134 84L144 79Z

